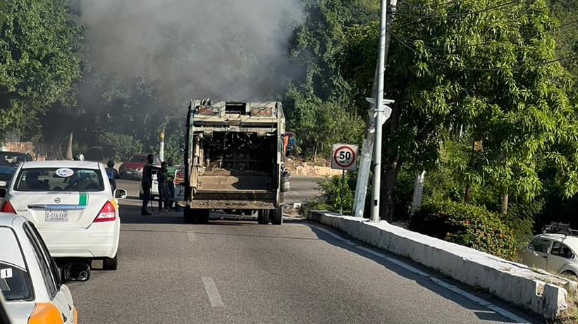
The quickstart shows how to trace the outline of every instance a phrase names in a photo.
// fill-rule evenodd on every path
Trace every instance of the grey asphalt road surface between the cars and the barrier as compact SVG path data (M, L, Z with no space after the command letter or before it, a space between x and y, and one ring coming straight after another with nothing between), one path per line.
M80 323L512 323L312 223L138 211L121 206L118 270L69 285Z

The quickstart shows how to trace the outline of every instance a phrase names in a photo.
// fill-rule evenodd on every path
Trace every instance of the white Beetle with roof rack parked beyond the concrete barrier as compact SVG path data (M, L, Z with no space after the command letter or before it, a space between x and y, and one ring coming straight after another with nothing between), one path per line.
M536 235L524 250L522 263L551 273L577 276L577 251L578 237L555 233Z

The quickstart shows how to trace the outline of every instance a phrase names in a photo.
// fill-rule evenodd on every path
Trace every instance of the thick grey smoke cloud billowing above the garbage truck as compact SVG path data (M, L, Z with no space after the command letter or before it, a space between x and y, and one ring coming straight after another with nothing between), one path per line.
M168 105L278 97L300 0L80 0L97 73L145 75Z

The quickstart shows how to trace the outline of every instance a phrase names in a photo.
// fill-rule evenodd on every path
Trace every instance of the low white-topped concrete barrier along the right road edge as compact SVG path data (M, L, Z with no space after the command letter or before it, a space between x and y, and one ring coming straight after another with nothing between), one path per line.
M313 211L308 218L337 228L373 247L411 258L546 319L556 318L565 311L568 307L567 289L577 289L577 282L536 272L522 264L405 230L384 221L369 223L360 218L323 211Z

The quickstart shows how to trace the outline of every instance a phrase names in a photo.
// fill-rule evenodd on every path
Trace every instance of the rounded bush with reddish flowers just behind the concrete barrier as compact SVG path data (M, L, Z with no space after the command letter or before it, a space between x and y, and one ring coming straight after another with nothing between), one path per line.
M501 258L516 257L515 235L496 213L481 206L449 200L426 201L412 217L410 228Z

